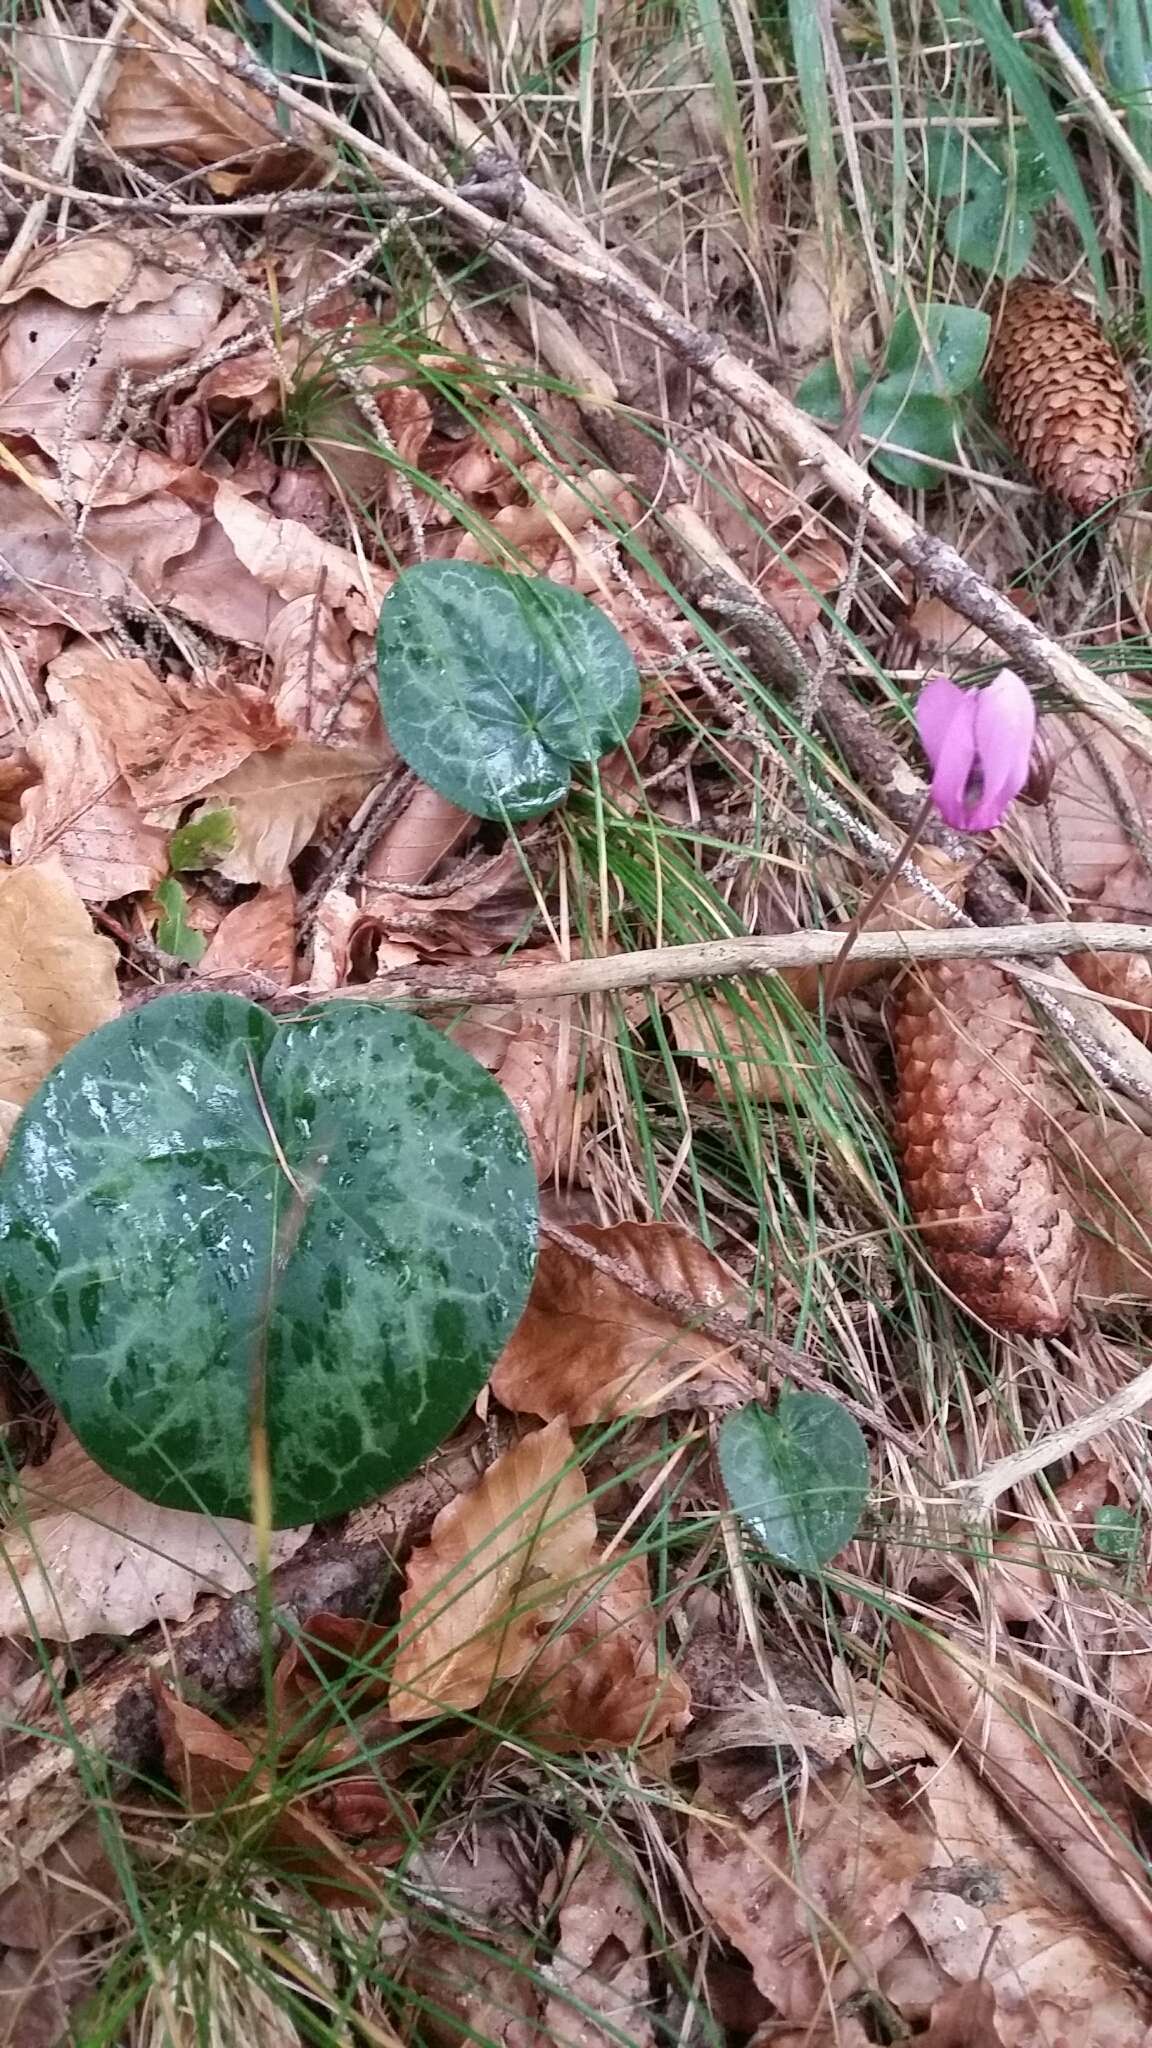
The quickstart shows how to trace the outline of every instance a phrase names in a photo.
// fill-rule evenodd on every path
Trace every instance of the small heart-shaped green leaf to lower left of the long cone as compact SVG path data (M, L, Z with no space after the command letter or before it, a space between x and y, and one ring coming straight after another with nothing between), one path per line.
M719 1430L719 1470L736 1513L781 1565L820 1571L855 1536L867 1501L863 1430L828 1395L785 1386Z

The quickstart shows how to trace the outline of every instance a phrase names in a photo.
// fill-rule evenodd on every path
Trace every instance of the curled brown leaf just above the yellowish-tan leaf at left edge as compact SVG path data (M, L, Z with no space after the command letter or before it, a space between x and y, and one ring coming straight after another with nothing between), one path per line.
M31 733L29 758L41 780L20 801L12 862L57 862L86 903L152 889L168 870L168 836L143 821L82 707L59 700Z

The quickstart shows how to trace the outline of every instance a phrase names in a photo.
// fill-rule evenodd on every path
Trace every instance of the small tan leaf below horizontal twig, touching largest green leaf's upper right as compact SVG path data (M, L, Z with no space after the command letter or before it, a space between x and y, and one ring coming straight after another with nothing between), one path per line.
M476 1004L449 1030L449 1038L500 1081L525 1126L541 1182L551 1180L572 1149L580 1108L578 1022L574 999L558 997L549 1004ZM584 1096L584 1106L586 1102Z

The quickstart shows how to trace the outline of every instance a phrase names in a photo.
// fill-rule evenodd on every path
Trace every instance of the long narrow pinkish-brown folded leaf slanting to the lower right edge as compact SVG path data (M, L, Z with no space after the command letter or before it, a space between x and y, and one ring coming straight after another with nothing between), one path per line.
M910 1628L894 1634L896 1665L914 1702L974 1755L1006 1810L1148 1968L1152 1905L1144 1862L1080 1790L1084 1759L1039 1696L1037 1675L1015 1681L957 1642Z

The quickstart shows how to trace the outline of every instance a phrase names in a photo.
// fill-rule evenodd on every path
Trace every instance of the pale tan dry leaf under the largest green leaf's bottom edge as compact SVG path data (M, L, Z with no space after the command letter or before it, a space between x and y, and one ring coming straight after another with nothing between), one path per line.
M273 1536L273 1563L307 1530ZM4 1534L0 1634L131 1636L148 1622L187 1622L201 1593L240 1593L256 1577L256 1532L154 1507L109 1479L59 1423L45 1464L20 1473Z

